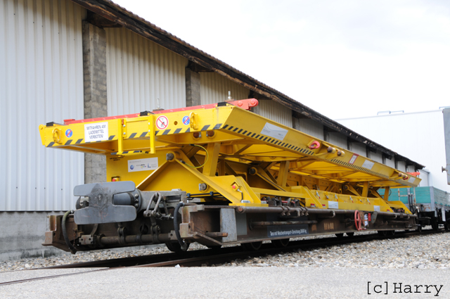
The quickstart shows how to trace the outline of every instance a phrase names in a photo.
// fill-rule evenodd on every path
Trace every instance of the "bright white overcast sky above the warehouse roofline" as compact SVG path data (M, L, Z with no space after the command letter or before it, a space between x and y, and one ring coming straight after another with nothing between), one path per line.
M113 1L333 119L450 106L450 1Z

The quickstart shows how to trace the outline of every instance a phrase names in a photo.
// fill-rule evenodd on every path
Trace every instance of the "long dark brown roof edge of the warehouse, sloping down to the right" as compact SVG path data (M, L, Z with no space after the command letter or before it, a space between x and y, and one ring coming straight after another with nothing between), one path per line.
M131 11L127 11L127 9L123 8L118 4L115 4L113 1L109 0L97 0L97 1L72 0L72 1L75 2L76 4L79 4L80 6L83 6L86 9L89 9L89 11L93 11L94 13L103 16L103 18L111 20L117 23L118 25L122 25L122 27L125 27L133 32L136 32L136 34L146 37L147 39L150 39L153 42L156 42L157 44L160 44L161 46L164 46L165 48L174 51L175 53L178 53L179 55L184 56L185 58L188 58L188 60L190 61L198 63L198 65L201 65L205 68L209 68L210 70L213 70L214 72L217 72L220 75L229 78L231 81L236 82L242 85L243 87L246 87L251 91L256 92L257 94L261 94L266 98L270 98L271 100L274 100L278 103L281 103L284 106L287 106L288 108L294 111L297 111L297 113L301 113L302 115L305 115L313 120L316 120L317 122L321 122L326 127L333 129L336 132L340 132L345 136L349 136L355 141L366 144L366 146L381 151L386 155L394 156L397 160L404 160L406 161L407 165L414 165L416 169L422 169L423 167L425 167L424 165L416 163L413 160L404 157L403 155L399 155L398 153L390 150L389 148L377 144L376 142L354 132L353 130L341 125L339 122L335 122L334 120L331 120L325 115L321 115L321 113L318 113L315 110L307 106L304 106L302 103L295 101L293 98L286 96L280 91L277 91L276 89L273 89L272 87L269 87L266 84L259 82L257 79L250 77L249 75L246 75L243 72L240 72L240 70L236 70L236 68L233 68L231 65L228 65L223 61L220 61L219 59L210 56L210 54L195 48L195 46L192 46L191 44L184 42L182 39L175 37L173 34L170 34L169 32L162 30L160 27L139 17L139 15L135 15L134 13L131 13Z

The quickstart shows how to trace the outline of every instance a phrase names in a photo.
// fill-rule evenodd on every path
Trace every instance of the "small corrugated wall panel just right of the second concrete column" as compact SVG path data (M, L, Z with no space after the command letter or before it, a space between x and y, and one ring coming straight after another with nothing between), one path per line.
M202 105L228 100L228 91L235 100L248 98L250 90L216 72L200 72L200 101Z

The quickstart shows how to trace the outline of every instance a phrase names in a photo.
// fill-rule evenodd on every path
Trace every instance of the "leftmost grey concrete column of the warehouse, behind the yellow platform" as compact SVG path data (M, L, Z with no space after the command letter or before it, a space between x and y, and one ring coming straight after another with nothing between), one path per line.
M106 32L86 21L83 30L84 118L108 116ZM104 155L84 154L84 183L106 182Z

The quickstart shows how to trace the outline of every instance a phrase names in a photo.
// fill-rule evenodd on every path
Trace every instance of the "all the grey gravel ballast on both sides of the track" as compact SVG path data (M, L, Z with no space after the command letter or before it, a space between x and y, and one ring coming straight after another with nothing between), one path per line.
M189 250L204 248L206 247L195 243L191 244ZM0 272L169 252L165 246L152 246L136 250L94 250L78 252L76 255L8 260L0 262ZM234 260L214 266L447 269L450 268L450 234L443 232L409 238L386 238L364 243L348 243L311 250L295 250L277 255Z

